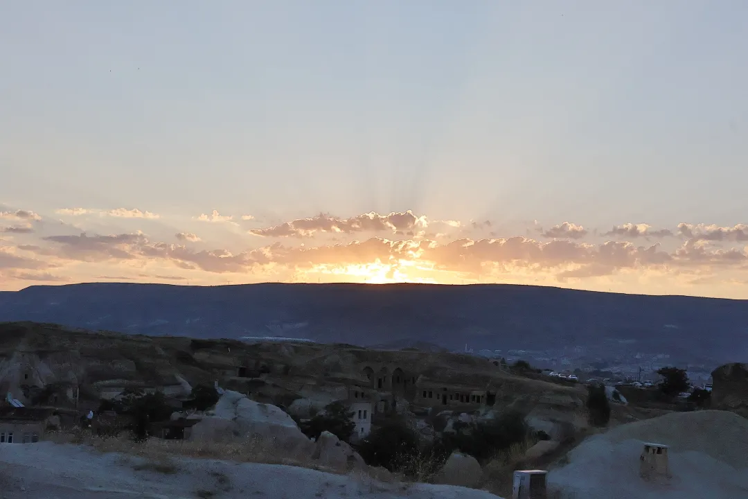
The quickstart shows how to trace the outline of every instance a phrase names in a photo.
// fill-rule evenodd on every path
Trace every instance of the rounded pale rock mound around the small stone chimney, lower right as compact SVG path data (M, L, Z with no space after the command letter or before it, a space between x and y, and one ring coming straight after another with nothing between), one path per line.
M639 475L643 442L669 446L669 485ZM748 498L748 420L726 411L675 412L616 426L548 473L559 499Z

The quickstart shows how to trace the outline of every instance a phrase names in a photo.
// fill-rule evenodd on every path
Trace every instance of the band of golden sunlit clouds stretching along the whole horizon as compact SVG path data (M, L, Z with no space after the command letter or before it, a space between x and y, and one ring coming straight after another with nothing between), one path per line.
M93 212L82 210L73 208L68 214ZM64 225L59 230L68 233L44 233L31 227L32 221L43 219L34 212L2 213L4 219L26 224L4 228L9 237L26 238L23 242L6 239L0 243L0 272L19 283L75 282L82 279L76 272L89 272L88 280L118 276L121 279L106 279L189 280L196 284L225 279L517 282L571 287L595 283L603 287L624 281L633 282L632 286L637 282L654 286L652 283L661 278L689 285L718 284L723 275L748 283L746 224L681 223L670 230L624 223L610 230L592 230L565 221L548 230L533 229L537 237L530 237L497 233L500 229L491 221L431 220L410 211L350 217L322 213L251 229L242 244L230 245L215 237L204 241L188 230L162 238L141 230L70 233L71 226ZM137 209L118 213L108 216L141 221L153 218ZM186 217L182 223L220 224L233 218L214 210L209 215ZM247 215L238 218L250 219ZM235 228L225 230L234 230L236 235ZM489 229L496 235L487 237ZM200 246L194 245L196 242Z

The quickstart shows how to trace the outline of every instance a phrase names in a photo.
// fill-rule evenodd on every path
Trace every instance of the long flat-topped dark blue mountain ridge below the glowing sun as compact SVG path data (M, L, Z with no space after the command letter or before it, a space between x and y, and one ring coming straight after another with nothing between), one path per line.
M0 293L0 321L132 334L283 336L361 346L545 349L605 340L748 358L748 301L481 284L92 283Z

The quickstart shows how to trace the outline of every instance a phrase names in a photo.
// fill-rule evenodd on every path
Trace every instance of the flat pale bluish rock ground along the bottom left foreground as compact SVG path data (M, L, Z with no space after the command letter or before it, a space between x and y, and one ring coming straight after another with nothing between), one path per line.
M174 473L142 459L83 446L0 445L3 499L500 499L488 492L423 483L382 483L284 465L174 456ZM147 464L147 463L145 463Z

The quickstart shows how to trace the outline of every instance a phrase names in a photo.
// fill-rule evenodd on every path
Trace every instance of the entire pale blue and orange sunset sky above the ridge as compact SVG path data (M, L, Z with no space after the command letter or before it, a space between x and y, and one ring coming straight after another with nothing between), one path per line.
M0 4L0 290L748 299L748 2Z

